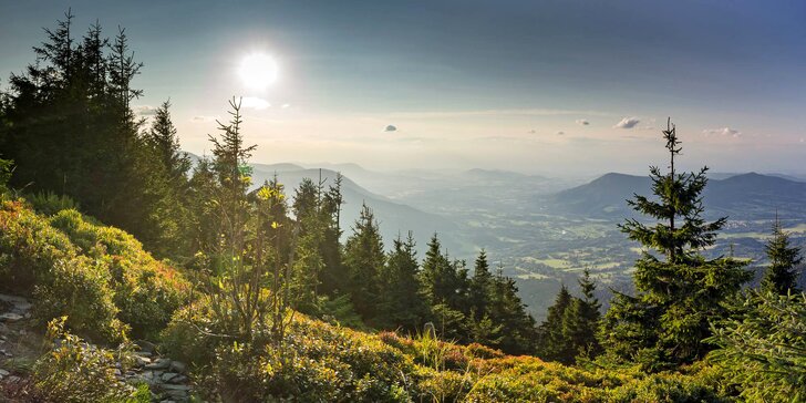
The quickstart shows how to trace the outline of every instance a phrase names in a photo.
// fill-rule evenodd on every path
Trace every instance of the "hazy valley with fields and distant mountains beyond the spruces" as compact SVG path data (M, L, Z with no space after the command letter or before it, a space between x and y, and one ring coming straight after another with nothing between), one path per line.
M591 270L599 297L610 289L630 292L631 269L641 249L619 230L624 217L636 217L626 199L649 195L649 178L606 174L598 178L552 178L506 170L410 170L380 173L355 164L254 164L255 183L277 173L287 192L303 177L324 186L335 172L344 175L344 237L362 203L374 209L386 245L397 234L414 232L420 256L437 232L451 256L472 262L484 248L495 267L516 279L529 312L539 321L560 285L572 291L582 269ZM776 208L795 245L806 245L806 183L795 176L760 174L710 175L705 217L727 216L725 229L706 256L733 254L765 261ZM738 197L737 195L744 195ZM736 200L742 200L737 203Z

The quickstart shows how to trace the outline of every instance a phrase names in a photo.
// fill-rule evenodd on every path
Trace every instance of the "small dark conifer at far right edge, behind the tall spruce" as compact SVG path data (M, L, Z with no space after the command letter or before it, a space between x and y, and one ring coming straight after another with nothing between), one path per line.
M765 247L769 266L764 270L762 291L786 294L797 293L798 266L803 262L800 248L793 247L777 217L773 224L773 238Z

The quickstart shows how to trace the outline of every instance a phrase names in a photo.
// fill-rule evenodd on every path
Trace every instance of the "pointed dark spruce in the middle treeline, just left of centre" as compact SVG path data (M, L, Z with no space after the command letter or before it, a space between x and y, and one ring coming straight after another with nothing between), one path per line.
M386 256L375 216L366 205L355 221L353 234L344 245L344 268L350 278L350 296L355 311L366 322L378 319L381 278Z

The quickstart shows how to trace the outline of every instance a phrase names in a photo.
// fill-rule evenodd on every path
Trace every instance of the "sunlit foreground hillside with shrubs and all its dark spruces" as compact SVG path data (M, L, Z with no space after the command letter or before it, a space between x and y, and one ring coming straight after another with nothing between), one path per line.
M340 175L257 175L239 97L192 163L168 101L151 120L133 112L143 64L126 32L76 31L69 13L48 30L0 99L0 291L33 307L0 304L2 344L16 345L0 399L806 400L800 250L776 221L755 288L742 256L704 254L726 219L703 196L720 184L737 203L731 184L755 177L676 170L671 122L645 192L600 179L634 210L618 226L641 246L634 292L603 310L579 268L579 292L561 287L538 323L485 249L464 261L438 234L424 254L412 232L383 237L372 203L400 208L388 200L345 219L356 190ZM423 217L401 211L399 224ZM42 347L20 354L34 337Z

